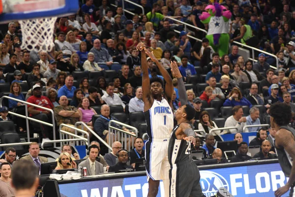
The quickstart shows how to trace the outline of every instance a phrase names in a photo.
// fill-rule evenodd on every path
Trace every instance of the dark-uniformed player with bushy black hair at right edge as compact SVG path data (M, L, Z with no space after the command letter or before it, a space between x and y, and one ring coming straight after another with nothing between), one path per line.
M292 120L289 105L276 102L270 106L270 126L277 132L275 134L275 149L279 163L285 176L289 177L287 184L274 192L276 197L281 197L290 190L293 197L295 182L295 130L288 126Z

